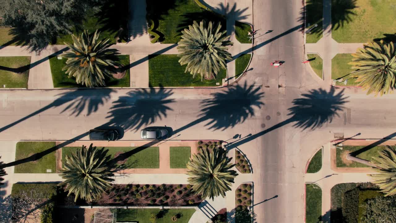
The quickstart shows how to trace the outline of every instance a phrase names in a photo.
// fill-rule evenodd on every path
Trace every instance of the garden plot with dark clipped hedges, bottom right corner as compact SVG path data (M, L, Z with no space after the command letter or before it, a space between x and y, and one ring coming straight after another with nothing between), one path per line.
M373 222L367 221L367 217L372 217L369 215L373 214L372 212L367 215L367 207L381 211L384 207L377 206L378 201L375 199L382 196L379 188L372 183L342 183L333 186L331 188L331 223Z

